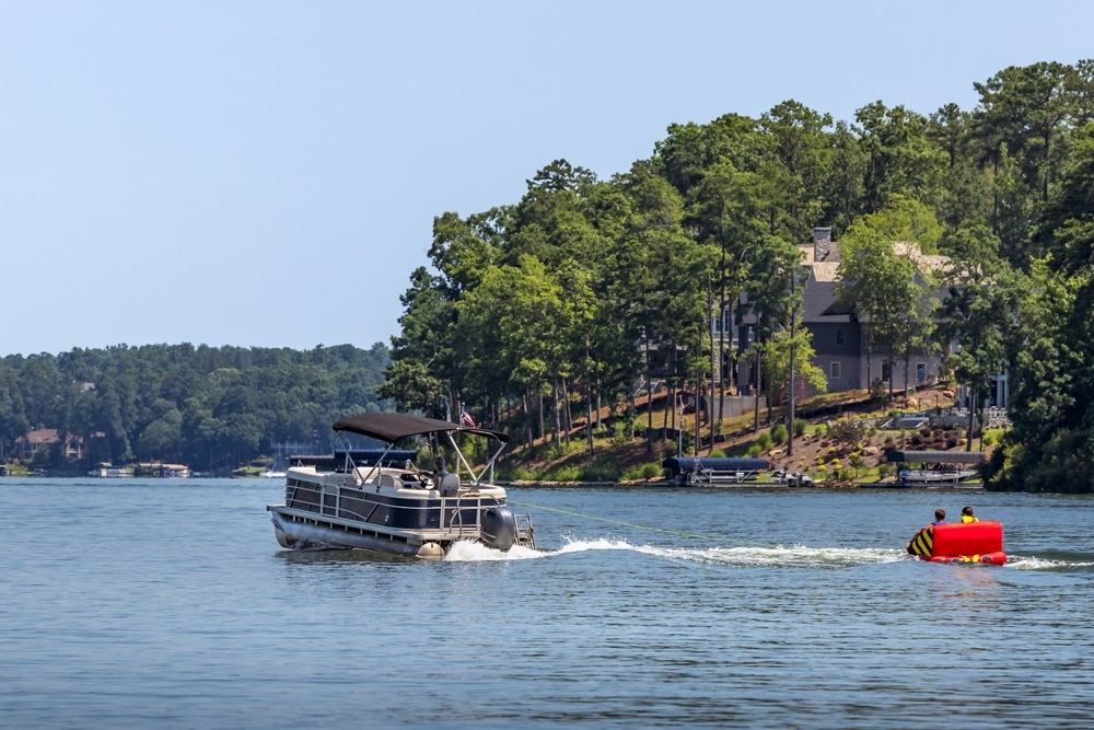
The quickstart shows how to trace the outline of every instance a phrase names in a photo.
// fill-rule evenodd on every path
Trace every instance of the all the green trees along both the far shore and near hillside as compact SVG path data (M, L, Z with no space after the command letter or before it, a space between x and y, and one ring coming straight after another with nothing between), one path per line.
M894 368L903 360L907 373L913 354L956 341L946 366L981 396L991 375L1012 374L1014 428L992 462L993 488L1061 478L1094 489L1059 467L1094 473L1084 445L1094 422L1092 78L1089 60L1037 62L975 83L974 111L945 104L923 116L874 102L834 121L785 101L759 118L674 124L649 159L607 181L555 160L519 200L434 219L389 351L155 345L4 358L0 455L31 429L58 428L90 461L229 467L271 441L326 450L333 420L392 404L441 418L466 406L514 445L554 433L555 453L571 454L563 404L629 404L654 369L698 392L726 346L709 326L721 315L755 323L748 355L760 356L777 403L788 387L826 384L794 273L796 245L828 225L840 304L865 351ZM901 242L938 246L950 265L932 274ZM934 312L939 291L946 304ZM865 383L881 401L872 362ZM640 421L628 405L617 441L629 443ZM694 433L685 429L684 453ZM62 460L56 451L23 456Z

